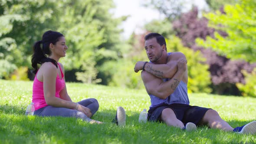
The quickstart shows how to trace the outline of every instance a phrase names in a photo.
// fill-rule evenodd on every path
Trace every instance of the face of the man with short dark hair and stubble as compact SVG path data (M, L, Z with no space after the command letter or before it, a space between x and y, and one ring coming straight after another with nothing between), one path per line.
M151 62L158 62L163 54L162 46L159 45L156 38L145 41L145 50Z

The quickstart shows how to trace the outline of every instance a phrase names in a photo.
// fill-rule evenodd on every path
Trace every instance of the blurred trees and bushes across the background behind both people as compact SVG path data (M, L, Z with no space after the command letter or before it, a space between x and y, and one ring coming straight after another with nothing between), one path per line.
M1 0L0 79L33 80L33 43L52 29L63 33L69 46L60 61L66 81L144 88L133 68L148 61L145 34L157 32L167 38L170 52L187 56L190 92L253 96L248 79L255 78L256 1L205 0L204 11L186 10L189 2L143 1L163 17L146 23L144 33L121 39L119 26L127 16L113 16L112 0Z

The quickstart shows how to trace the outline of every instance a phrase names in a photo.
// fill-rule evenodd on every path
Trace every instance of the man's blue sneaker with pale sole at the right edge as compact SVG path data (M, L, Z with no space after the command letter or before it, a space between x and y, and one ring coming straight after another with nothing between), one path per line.
M236 127L233 130L239 134L255 134L256 133L256 121L252 121L249 124L243 125L242 127Z

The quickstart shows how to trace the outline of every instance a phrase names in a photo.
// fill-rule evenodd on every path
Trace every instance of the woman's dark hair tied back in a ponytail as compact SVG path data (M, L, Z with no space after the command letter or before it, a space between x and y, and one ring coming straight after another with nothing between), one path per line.
M52 62L56 68L58 68L57 62L54 59L47 57L50 56L51 51L49 49L50 43L53 45L59 41L59 38L63 35L59 32L48 30L43 34L42 40L37 41L33 46L33 56L31 59L32 67L34 68L33 73L36 74L38 67L37 64L43 64L44 62ZM41 44L43 48L41 48Z

